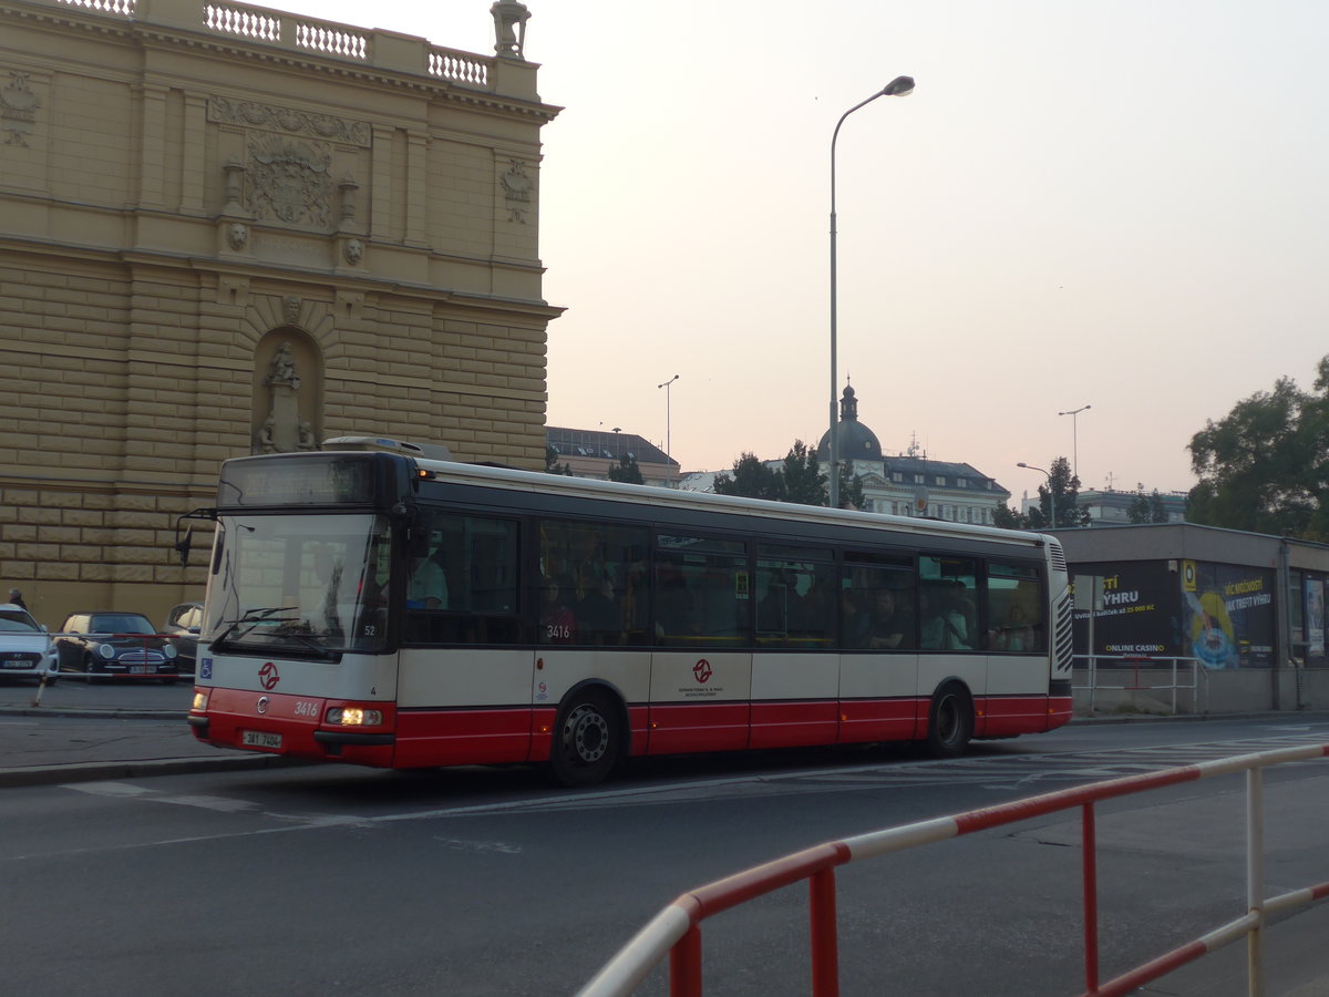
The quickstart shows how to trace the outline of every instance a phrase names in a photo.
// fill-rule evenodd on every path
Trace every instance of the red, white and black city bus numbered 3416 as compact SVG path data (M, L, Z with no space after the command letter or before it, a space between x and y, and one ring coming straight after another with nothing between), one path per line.
M331 449L340 447L342 449ZM1053 537L435 460L360 437L227 460L189 723L384 768L1049 731Z

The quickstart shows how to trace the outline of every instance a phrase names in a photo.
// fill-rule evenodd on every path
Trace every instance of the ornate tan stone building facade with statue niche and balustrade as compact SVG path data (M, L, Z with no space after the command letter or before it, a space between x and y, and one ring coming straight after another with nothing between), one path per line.
M558 108L505 41L0 0L0 586L52 627L161 622L202 597L175 521L231 456L375 433L544 467Z

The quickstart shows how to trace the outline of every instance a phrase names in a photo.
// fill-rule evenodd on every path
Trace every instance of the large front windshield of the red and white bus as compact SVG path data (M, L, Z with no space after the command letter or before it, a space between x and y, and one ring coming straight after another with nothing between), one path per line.
M209 614L218 651L335 658L387 646L381 516L221 516Z

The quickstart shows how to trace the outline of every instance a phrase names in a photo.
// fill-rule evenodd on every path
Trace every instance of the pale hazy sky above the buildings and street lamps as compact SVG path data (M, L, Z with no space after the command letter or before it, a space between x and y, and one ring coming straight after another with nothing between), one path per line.
M493 52L490 0L275 5ZM1058 456L1086 488L1187 489L1207 419L1329 352L1326 3L526 5L565 108L553 425L668 432L684 471L820 439L831 136L900 74L836 178L840 387L886 453L917 437L1017 498L1042 481L1017 461Z

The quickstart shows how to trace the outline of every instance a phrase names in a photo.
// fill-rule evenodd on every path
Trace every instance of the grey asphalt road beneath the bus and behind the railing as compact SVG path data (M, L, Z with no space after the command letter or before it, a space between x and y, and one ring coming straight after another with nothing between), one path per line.
M72 698L105 691L70 686ZM167 711L187 701L178 687L138 694L166 697ZM0 717L19 720L69 724L72 736L108 720L125 731L185 726ZM684 889L758 861L1321 739L1329 723L1301 717L1073 724L954 762L904 748L671 759L591 792L552 788L521 767L190 771L7 788L0 954L7 989L39 997L573 993ZM1326 879L1325 780L1312 764L1269 778L1271 891ZM1240 913L1241 827L1232 779L1103 807L1104 977ZM1050 816L841 869L843 993L1079 993L1076 840L1074 820ZM708 992L807 993L805 917L804 891L788 889L708 921ZM1316 911L1269 932L1271 997L1329 993L1305 989L1324 978L1326 929ZM1229 946L1150 993L1245 993L1243 960L1244 946ZM657 972L641 992L666 989Z

